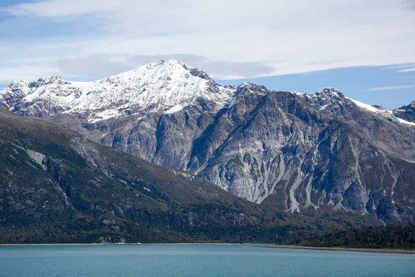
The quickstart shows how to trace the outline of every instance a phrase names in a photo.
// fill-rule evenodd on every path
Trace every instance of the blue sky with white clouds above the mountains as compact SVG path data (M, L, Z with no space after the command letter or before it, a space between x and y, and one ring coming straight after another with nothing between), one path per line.
M415 100L415 0L0 0L0 88L171 58L221 84Z

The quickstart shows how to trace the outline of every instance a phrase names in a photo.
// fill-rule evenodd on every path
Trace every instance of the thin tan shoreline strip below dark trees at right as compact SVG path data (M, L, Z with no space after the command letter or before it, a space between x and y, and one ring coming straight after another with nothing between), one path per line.
M302 249L317 251L344 251L344 252L365 252L365 253L389 253L389 254L415 254L415 250L405 249L376 249L376 248L345 248L345 247L303 247L299 245L268 245L264 248L279 249Z

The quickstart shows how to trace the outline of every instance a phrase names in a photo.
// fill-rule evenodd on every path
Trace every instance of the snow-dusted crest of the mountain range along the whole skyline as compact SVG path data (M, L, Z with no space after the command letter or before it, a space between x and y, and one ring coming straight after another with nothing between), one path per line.
M174 114L190 105L217 112L232 107L240 97L270 93L263 85L244 82L220 86L207 73L178 60L160 60L95 82L69 82L59 75L35 82L13 81L0 91L0 107L28 116L75 114L90 122L151 112ZM344 108L359 107L394 121L415 125L407 117L396 117L378 105L346 98L328 87L316 93L293 93L324 113L342 114ZM415 101L407 108L415 107ZM405 118L405 119L404 119ZM413 121L409 119L410 121Z

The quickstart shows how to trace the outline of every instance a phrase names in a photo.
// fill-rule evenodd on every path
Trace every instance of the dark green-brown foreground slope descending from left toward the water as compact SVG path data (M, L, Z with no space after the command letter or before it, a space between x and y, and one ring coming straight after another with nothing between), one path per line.
M0 148L1 242L267 241L279 233L280 220L257 204L46 120L0 109Z

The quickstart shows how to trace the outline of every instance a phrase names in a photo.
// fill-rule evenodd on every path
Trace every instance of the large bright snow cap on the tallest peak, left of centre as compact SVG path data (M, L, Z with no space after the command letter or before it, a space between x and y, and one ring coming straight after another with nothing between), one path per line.
M234 93L234 87L219 86L205 72L178 60L161 60L95 82L68 82L53 76L17 83L28 114L41 109L46 115L63 111L87 116L91 122L129 114L174 113L199 100L217 111Z

